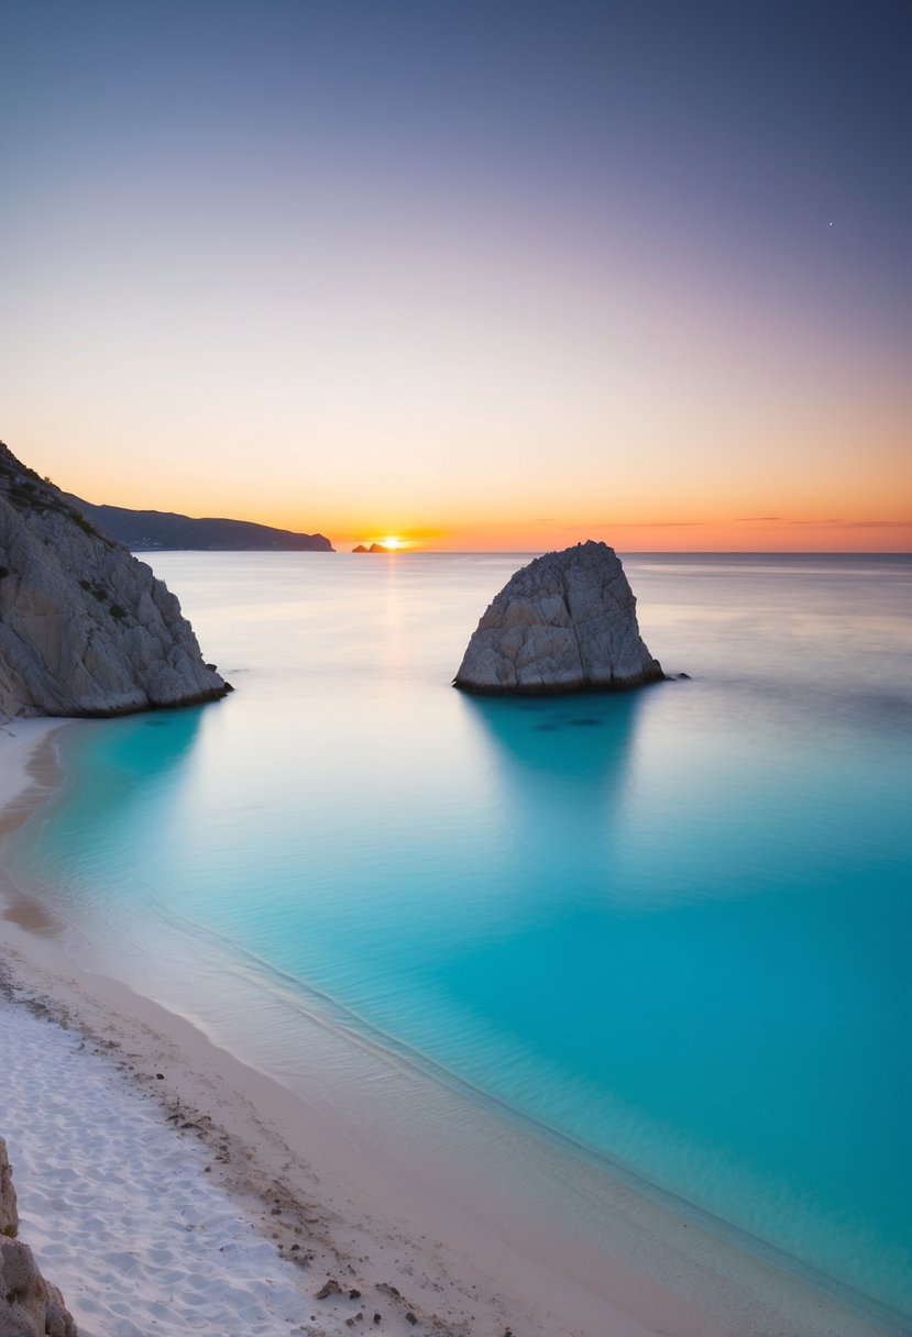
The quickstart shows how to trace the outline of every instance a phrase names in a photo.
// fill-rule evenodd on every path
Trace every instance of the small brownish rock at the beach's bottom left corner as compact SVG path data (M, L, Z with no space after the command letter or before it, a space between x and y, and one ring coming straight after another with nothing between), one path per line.
M17 1239L19 1211L7 1143L0 1138L0 1333L3 1337L76 1337L56 1286L48 1285L28 1245Z

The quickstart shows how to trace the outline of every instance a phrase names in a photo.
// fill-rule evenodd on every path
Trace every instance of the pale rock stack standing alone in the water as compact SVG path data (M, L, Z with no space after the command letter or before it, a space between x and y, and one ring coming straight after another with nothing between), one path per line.
M547 552L507 582L479 622L456 687L491 694L612 690L663 678L637 600L606 543Z

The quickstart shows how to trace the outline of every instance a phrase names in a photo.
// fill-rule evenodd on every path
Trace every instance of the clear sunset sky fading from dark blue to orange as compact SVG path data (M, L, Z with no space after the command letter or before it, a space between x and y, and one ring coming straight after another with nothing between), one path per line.
M0 0L0 437L337 547L912 550L908 0Z

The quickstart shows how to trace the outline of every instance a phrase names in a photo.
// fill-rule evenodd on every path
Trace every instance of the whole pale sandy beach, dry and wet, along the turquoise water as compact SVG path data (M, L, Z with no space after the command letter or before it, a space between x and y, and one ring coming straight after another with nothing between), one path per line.
M60 727L0 733L0 837L53 793ZM620 1181L599 1183L596 1242L511 1203L475 1211L409 1173L407 1147L385 1154L394 1130L348 1119L318 1083L289 1090L78 964L66 928L0 872L0 1135L23 1238L90 1337L904 1330Z

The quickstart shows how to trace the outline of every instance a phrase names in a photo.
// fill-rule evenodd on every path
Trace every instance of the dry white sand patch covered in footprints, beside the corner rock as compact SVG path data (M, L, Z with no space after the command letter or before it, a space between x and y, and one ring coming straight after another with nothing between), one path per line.
M110 1337L300 1330L302 1277L80 1035L0 1004L21 1237L80 1328ZM87 1245L91 1241L91 1247Z

